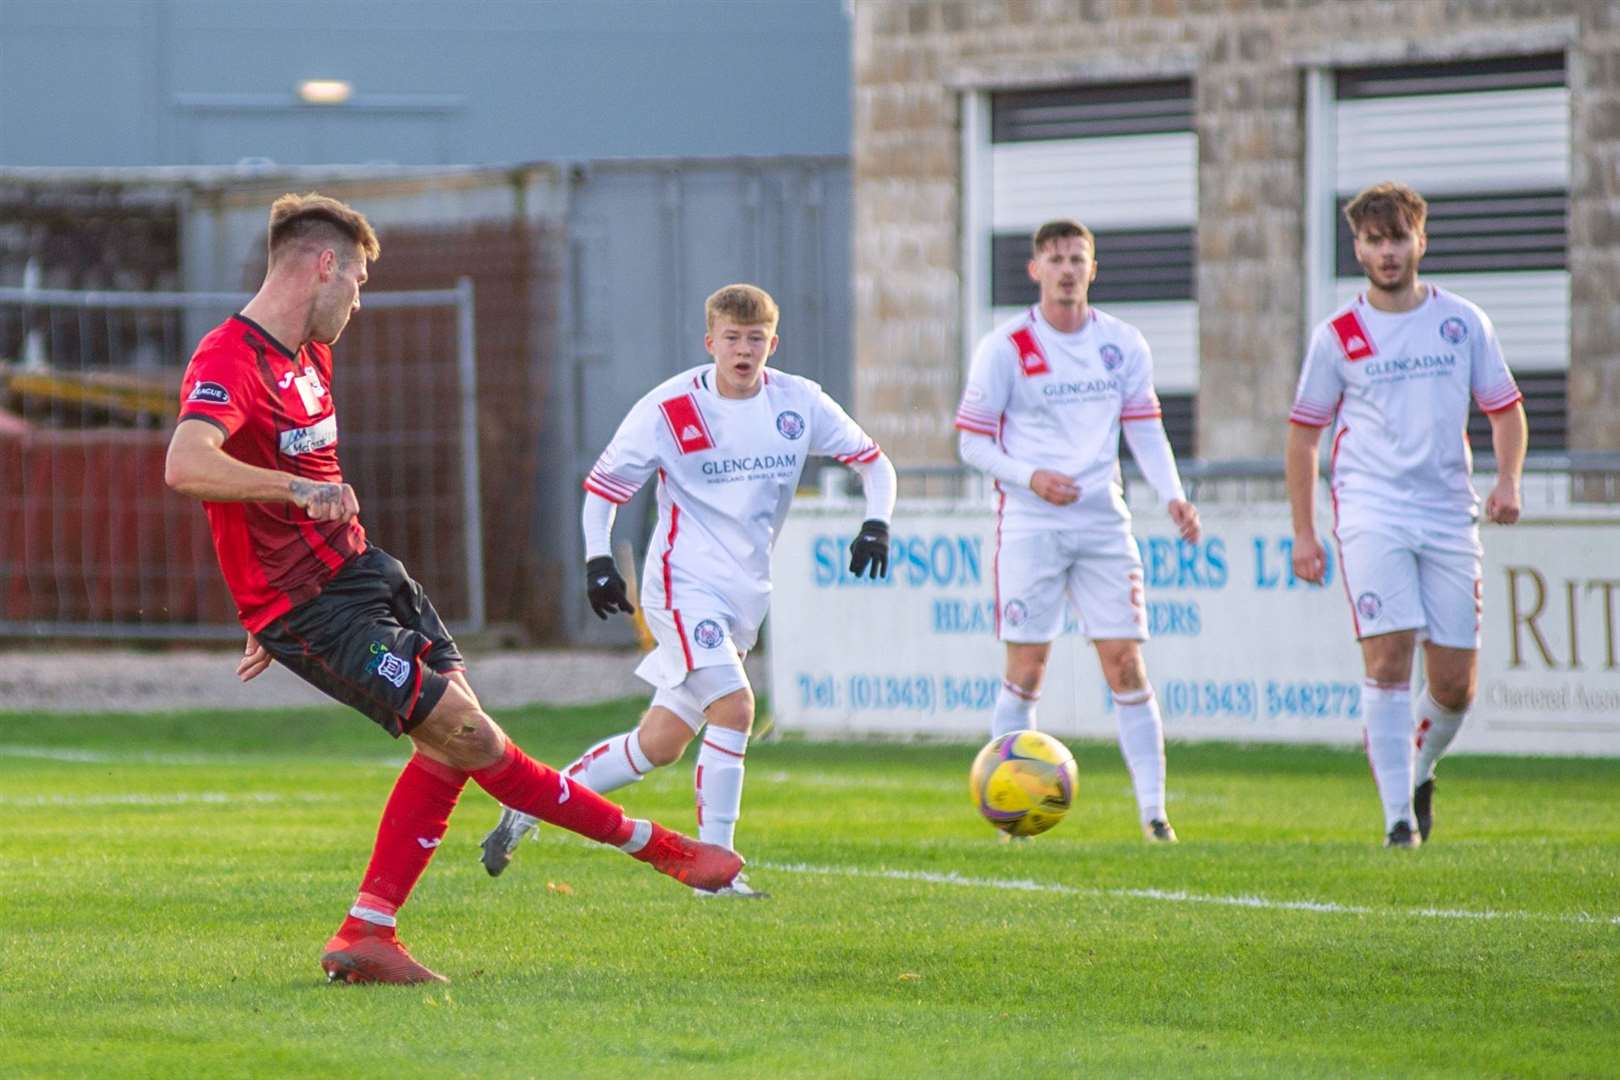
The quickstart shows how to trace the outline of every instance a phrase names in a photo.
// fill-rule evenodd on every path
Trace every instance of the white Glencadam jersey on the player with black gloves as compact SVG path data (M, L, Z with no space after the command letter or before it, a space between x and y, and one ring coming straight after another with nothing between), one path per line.
M771 547L805 461L865 465L878 453L816 382L768 369L752 398L724 398L703 364L635 403L585 491L624 504L658 473L642 604L731 615L747 649L771 602Z

